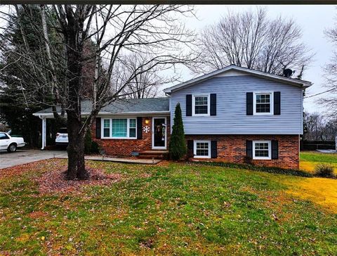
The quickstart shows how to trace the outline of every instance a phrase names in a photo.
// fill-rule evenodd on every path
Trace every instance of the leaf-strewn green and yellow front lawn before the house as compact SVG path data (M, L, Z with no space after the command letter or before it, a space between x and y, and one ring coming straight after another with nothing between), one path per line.
M121 179L43 193L37 179L64 169L66 161L0 171L0 252L336 254L337 207L298 195L298 184L317 178L183 163L88 161L89 167Z

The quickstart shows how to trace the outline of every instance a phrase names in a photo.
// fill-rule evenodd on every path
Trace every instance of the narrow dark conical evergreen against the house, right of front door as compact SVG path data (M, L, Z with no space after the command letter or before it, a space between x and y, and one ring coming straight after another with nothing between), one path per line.
M172 127L172 134L169 145L170 158L179 160L187 153L183 117L181 115L180 103L176 105L174 112L174 120Z

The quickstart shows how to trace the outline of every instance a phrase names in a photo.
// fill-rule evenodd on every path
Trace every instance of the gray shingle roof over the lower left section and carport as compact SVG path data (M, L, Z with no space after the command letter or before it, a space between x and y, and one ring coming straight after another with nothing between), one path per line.
M60 107L57 108L60 112ZM119 99L100 110L100 113L127 114L127 113L156 113L169 112L169 97L166 98L131 98ZM81 113L91 112L91 101L82 101ZM34 114L51 114L51 108L46 108Z

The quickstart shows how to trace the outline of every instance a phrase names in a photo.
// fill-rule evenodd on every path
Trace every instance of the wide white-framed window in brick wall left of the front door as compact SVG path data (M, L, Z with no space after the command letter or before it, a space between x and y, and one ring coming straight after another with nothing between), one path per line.
M136 118L103 119L103 138L136 139Z

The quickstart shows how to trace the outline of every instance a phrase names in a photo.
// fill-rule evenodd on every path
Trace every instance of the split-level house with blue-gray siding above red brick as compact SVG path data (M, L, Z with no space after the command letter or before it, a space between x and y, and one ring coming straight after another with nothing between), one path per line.
M298 169L303 91L312 84L230 65L165 89L169 97L119 100L103 108L93 139L108 155L166 151L177 103L195 159ZM90 103L82 104L82 113ZM51 109L35 113L46 120Z

